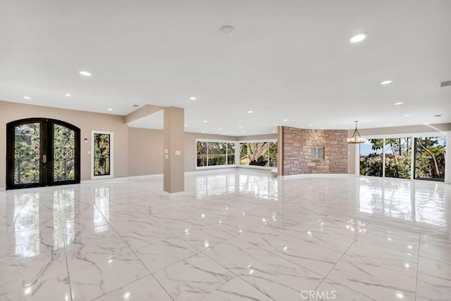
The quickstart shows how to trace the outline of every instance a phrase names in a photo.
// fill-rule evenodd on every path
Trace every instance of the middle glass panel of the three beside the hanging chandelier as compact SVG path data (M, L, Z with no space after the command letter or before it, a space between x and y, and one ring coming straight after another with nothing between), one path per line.
M385 177L410 178L411 149L411 138L385 139Z

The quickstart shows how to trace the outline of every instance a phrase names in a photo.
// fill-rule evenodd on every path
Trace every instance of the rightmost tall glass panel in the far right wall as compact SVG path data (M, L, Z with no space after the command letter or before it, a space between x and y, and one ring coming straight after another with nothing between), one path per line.
M415 172L419 180L445 180L445 137L415 139Z

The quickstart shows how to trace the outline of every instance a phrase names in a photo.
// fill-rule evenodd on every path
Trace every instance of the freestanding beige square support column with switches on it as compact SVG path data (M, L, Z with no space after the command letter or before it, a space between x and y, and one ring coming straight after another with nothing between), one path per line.
M164 108L163 122L163 190L185 190L185 110Z

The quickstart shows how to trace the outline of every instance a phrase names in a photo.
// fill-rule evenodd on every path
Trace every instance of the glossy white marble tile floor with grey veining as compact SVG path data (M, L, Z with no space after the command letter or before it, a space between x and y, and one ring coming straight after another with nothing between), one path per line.
M0 192L0 300L451 300L451 185L226 170Z

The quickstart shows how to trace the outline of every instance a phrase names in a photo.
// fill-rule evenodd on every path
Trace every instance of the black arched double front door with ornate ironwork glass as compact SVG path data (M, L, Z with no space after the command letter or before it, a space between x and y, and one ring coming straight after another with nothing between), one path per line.
M80 128L27 118L6 131L6 189L80 183Z

